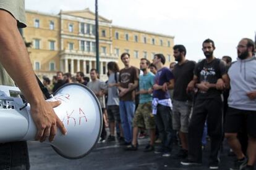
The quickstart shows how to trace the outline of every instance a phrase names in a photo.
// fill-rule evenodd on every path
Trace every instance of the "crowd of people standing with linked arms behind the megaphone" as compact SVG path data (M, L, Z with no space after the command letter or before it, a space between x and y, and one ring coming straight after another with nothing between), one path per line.
M90 78L77 72L58 72L54 86L49 78L44 84L54 92L66 83L88 86L100 101L104 125L99 142L118 141L124 150L138 150L139 133L147 132L144 152L170 156L174 140L180 150L175 158L183 166L202 164L202 149L207 136L211 142L209 168L218 169L219 152L226 138L230 152L237 159L231 169L254 169L256 159L256 60L254 42L242 39L237 46L237 61L214 55L215 43L202 43L205 59L198 63L186 59L186 47L173 47L174 59L164 67L163 54L155 54L152 63L140 59L140 69L130 65L130 54L121 55L124 68L108 63L108 81L101 81L98 71ZM109 127L107 136L106 127ZM140 134L140 135L141 135ZM177 134L177 135L176 135ZM161 141L155 148L155 141Z

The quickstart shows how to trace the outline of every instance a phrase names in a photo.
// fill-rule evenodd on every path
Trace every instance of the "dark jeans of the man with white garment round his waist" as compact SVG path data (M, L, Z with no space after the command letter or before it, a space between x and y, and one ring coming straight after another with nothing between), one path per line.
M171 108L164 105L157 105L155 115L156 126L158 128L159 136L162 141L161 147L171 152L171 144L173 143L173 126L171 120Z

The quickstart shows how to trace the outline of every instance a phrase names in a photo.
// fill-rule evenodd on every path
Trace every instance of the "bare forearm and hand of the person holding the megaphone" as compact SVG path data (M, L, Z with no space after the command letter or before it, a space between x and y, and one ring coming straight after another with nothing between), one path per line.
M54 113L60 102L46 102L35 78L28 52L17 28L17 21L5 10L0 10L0 62L14 79L31 105L32 118L38 129L36 140L53 140L58 126L66 134L64 124Z

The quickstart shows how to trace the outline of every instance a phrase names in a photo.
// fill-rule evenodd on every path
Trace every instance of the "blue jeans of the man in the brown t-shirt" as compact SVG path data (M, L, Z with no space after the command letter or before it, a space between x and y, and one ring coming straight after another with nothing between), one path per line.
M119 111L121 117L122 129L124 131L124 140L132 142L132 121L135 112L135 103L133 101L119 102Z

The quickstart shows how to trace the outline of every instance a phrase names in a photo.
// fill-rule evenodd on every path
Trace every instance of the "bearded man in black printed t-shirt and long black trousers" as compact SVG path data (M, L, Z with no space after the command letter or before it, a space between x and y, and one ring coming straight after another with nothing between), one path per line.
M203 54L206 59L199 62L194 70L194 78L190 81L187 90L198 93L195 99L192 117L189 124L189 156L181 164L189 166L202 163L202 134L207 119L208 135L211 139L211 153L209 168L218 169L218 151L222 142L222 100L221 91L216 89L218 79L228 82L225 63L213 55L215 44L211 39L203 41ZM218 86L217 86L218 87ZM221 85L221 88L224 84Z

